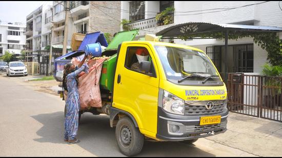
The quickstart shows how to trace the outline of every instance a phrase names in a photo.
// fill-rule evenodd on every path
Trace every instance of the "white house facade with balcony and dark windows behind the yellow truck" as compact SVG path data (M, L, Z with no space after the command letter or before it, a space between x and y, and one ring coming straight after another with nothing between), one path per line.
M144 1L139 4L122 2L120 19L134 19L129 25L142 29L139 36L145 33L156 33L167 27L186 22L210 22L215 24L238 24L254 26L272 26L282 28L282 11L278 2L258 1ZM173 7L173 22L169 25L158 26L155 15L164 8ZM134 10L133 8L138 8ZM127 12L128 11L128 12ZM136 19L136 18L135 18ZM150 25L148 25L150 24ZM280 39L282 33L277 34ZM171 41L171 40L167 40ZM267 62L267 52L253 42L252 38L243 38L228 41L228 61L225 62L224 40L216 39L191 39L184 41L173 39L175 43L193 46L213 54L217 57L219 72L224 72L225 63L229 73L260 73L262 65ZM241 54L241 56L238 56ZM244 54L244 55L243 55ZM236 56L237 55L237 56Z

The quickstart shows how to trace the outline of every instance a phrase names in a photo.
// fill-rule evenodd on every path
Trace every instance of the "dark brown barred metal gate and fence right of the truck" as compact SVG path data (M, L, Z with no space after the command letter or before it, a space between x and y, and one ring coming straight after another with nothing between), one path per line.
M232 112L282 122L282 77L228 75Z

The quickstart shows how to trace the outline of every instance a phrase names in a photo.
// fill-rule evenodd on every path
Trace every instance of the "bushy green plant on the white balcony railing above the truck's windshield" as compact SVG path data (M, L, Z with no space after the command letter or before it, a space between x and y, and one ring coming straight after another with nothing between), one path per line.
M174 8L168 7L164 11L156 14L157 26L172 24L173 12L174 12Z

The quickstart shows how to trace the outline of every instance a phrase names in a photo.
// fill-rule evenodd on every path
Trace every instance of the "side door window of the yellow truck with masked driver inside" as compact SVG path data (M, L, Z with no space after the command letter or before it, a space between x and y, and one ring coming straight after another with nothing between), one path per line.
M151 72L149 72L149 73L155 74L153 62L152 62L151 59L152 58L151 58L151 56L150 56L150 54L149 54L149 52L146 48L144 48L144 47L129 47L127 49L125 67L129 70L145 74L145 72L142 72L140 70L140 62L141 61L150 61L151 62Z

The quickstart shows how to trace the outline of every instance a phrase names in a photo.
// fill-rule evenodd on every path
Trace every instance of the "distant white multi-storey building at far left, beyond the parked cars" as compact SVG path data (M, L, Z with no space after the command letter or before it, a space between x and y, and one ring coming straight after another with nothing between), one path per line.
M21 22L0 22L0 56L6 51L21 54L26 45L25 29Z

